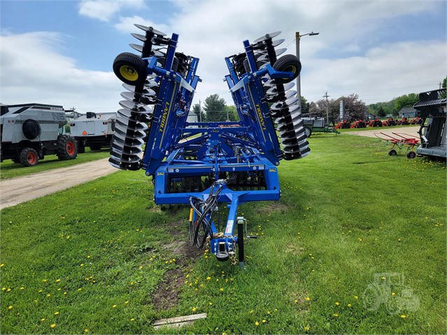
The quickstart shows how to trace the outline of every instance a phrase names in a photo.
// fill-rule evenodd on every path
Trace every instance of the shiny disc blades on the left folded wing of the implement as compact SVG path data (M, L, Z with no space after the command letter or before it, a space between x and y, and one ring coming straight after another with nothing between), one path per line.
M141 24L135 26L143 31L142 34L132 34L143 45L129 44L131 48L141 52L141 57L157 57L157 66L163 66L166 52L163 51L169 43L166 34ZM148 44L147 41L150 41ZM152 48L156 47L156 48ZM115 123L115 134L111 146L111 157L108 162L122 170L138 170L141 168L142 145L145 143L148 123L152 120L152 107L157 101L159 80L157 76L148 77L142 85L132 86L122 84L126 89L121 93L124 100L120 101L121 108Z

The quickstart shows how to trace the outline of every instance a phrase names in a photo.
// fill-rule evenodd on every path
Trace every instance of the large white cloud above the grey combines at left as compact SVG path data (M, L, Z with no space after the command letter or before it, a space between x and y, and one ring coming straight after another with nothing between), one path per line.
M74 59L60 55L62 37L47 31L0 36L1 103L116 111L122 91L118 78L113 72L80 69Z

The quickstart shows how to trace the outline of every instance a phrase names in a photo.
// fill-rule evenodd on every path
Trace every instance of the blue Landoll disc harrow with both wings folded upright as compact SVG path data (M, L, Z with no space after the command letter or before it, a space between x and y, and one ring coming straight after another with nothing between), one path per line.
M155 204L190 204L191 244L209 244L218 260L234 264L238 250L243 266L246 220L237 216L238 206L279 200L280 160L310 152L299 99L290 90L301 64L294 55L278 58L285 52L276 49L284 41L274 40L279 31L251 44L243 41L245 52L225 58L225 80L240 121L190 123L201 81L199 59L177 51L177 34L167 38L152 27L135 26L144 34L132 36L143 45L130 46L141 57L124 52L113 62L127 92L121 94L109 162L152 176ZM218 205L227 208L223 222Z

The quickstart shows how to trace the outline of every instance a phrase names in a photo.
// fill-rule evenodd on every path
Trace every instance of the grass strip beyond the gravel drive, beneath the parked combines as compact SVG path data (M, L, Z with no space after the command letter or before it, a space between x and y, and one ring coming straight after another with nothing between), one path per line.
M6 159L0 164L0 179L26 176L31 173L92 162L106 157L110 157L108 149L90 151L90 148L85 148L85 152L83 154L78 154L76 159L59 161L56 155L48 155L45 156L45 159L39 160L36 166L23 166L22 164L14 163L12 159Z

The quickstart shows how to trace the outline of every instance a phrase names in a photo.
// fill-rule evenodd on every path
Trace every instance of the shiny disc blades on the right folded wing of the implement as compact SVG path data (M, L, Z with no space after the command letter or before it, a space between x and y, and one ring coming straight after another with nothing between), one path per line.
M281 31L266 34L257 38L251 44L258 69L262 69L266 64L273 66L274 62L276 62L276 57L282 55L287 50L286 48L276 48L284 42L283 39L273 40L279 34L281 34ZM238 75L239 73L243 75L243 73L250 72L245 52L234 57L234 65ZM308 155L311 149L308 148L304 121L299 108L299 98L296 97L297 92L292 90L295 83L278 83L277 80L270 79L266 75L262 78L262 86L264 87L267 102L274 103L270 107L270 113L279 132L283 147L283 158L292 160Z

